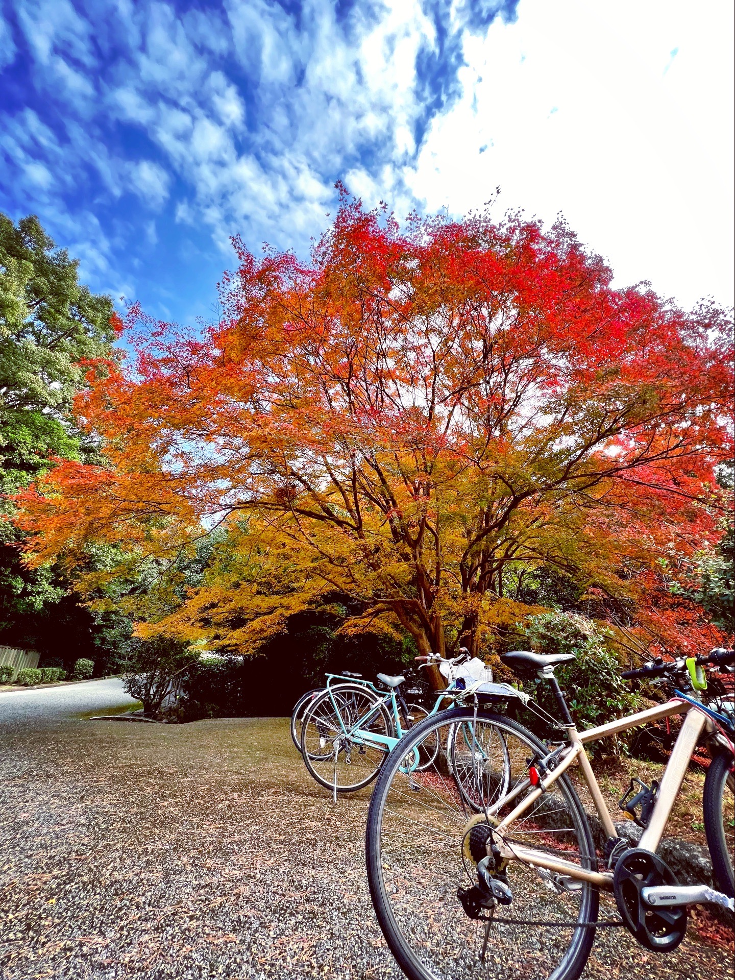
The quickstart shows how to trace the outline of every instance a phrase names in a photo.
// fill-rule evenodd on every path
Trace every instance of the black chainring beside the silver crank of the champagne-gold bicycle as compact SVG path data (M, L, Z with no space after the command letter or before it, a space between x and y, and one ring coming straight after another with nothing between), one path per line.
M613 892L617 909L627 929L647 950L669 953L687 931L685 906L651 907L642 891L656 885L677 885L676 875L658 855L630 848L615 864Z

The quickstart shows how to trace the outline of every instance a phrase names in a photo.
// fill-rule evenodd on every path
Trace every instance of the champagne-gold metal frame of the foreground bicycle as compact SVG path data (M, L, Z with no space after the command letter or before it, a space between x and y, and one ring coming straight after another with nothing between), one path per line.
M618 734L618 732L626 731L629 728L637 728L638 726L644 725L648 722L657 721L660 718L670 717L673 714L681 714L684 712L686 712L686 716L683 720L676 742L674 743L671 756L663 771L656 805L651 815L651 819L649 820L649 824L643 832L640 843L637 845L637 847L646 851L651 851L655 854L659 848L659 845L661 844L663 831L676 797L681 789L681 784L684 781L689 760L692 758L697 741L706 726L712 727L711 720L705 711L699 710L691 701L672 699L671 701L666 702L666 704L659 705L656 708L651 708L647 711L638 711L637 713L630 714L625 718L618 718L615 721L610 721L607 724L599 725L596 728L587 728L581 732L577 731L576 726L567 726L566 730L568 732L569 744L560 756L559 763L555 766L555 768L549 771L543 777L543 779L540 780L539 785L526 797L524 797L524 799L515 807L515 809L513 809L508 816L501 820L501 822L495 828L495 834L498 837L498 843L503 857L508 858L509 860L520 860L524 863L533 864L536 867L544 868L549 871L556 871L558 873L568 875L569 878L574 878L579 881L588 881L594 885L597 885L599 888L605 889L606 891L612 891L612 871L588 870L580 867L573 861L567 861L564 860L564 858L558 858L547 854L544 851L520 846L515 843L513 844L513 847L510 847L509 845L505 844L504 831L507 831L513 822L529 807L531 807L534 802L538 800L544 790L548 789L553 783L555 783L556 780L559 779L559 777L566 771L566 769L568 769L571 765L577 764L581 769L582 777L589 788L590 796L592 797L595 809L598 811L600 821L603 824L606 833L609 837L616 838L618 834L613 824L613 818L610 815L610 810L605 803L597 779L595 778L595 774L592 770L590 760L588 759L587 753L584 749L586 743L610 738L613 735ZM488 808L487 815L492 815L494 812L501 809L501 807L506 806L509 802L512 802L530 785L531 783L529 779L521 781L521 783L516 786L510 794L506 795L493 807ZM542 786L543 789L541 788Z

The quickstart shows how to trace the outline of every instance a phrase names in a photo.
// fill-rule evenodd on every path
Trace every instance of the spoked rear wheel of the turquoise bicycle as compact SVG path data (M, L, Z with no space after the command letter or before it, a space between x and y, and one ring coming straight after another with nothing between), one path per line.
M351 793L377 775L388 747L358 735L367 731L393 737L393 721L383 702L361 684L324 691L304 715L301 754L309 772L325 789Z

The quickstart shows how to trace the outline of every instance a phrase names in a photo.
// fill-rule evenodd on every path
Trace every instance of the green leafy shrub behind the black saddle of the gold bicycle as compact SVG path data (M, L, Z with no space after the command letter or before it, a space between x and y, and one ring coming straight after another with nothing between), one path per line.
M620 664L609 646L612 634L605 627L578 613L559 610L529 616L524 631L531 645L545 654L575 656L575 661L560 664L556 673L580 728L636 711L639 699L620 677ZM548 684L536 684L539 703L558 716Z

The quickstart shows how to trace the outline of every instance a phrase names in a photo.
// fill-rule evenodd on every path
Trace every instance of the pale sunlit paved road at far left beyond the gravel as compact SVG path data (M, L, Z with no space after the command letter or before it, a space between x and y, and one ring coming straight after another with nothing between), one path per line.
M54 724L82 711L104 711L132 701L120 677L0 691L0 738L19 725Z

